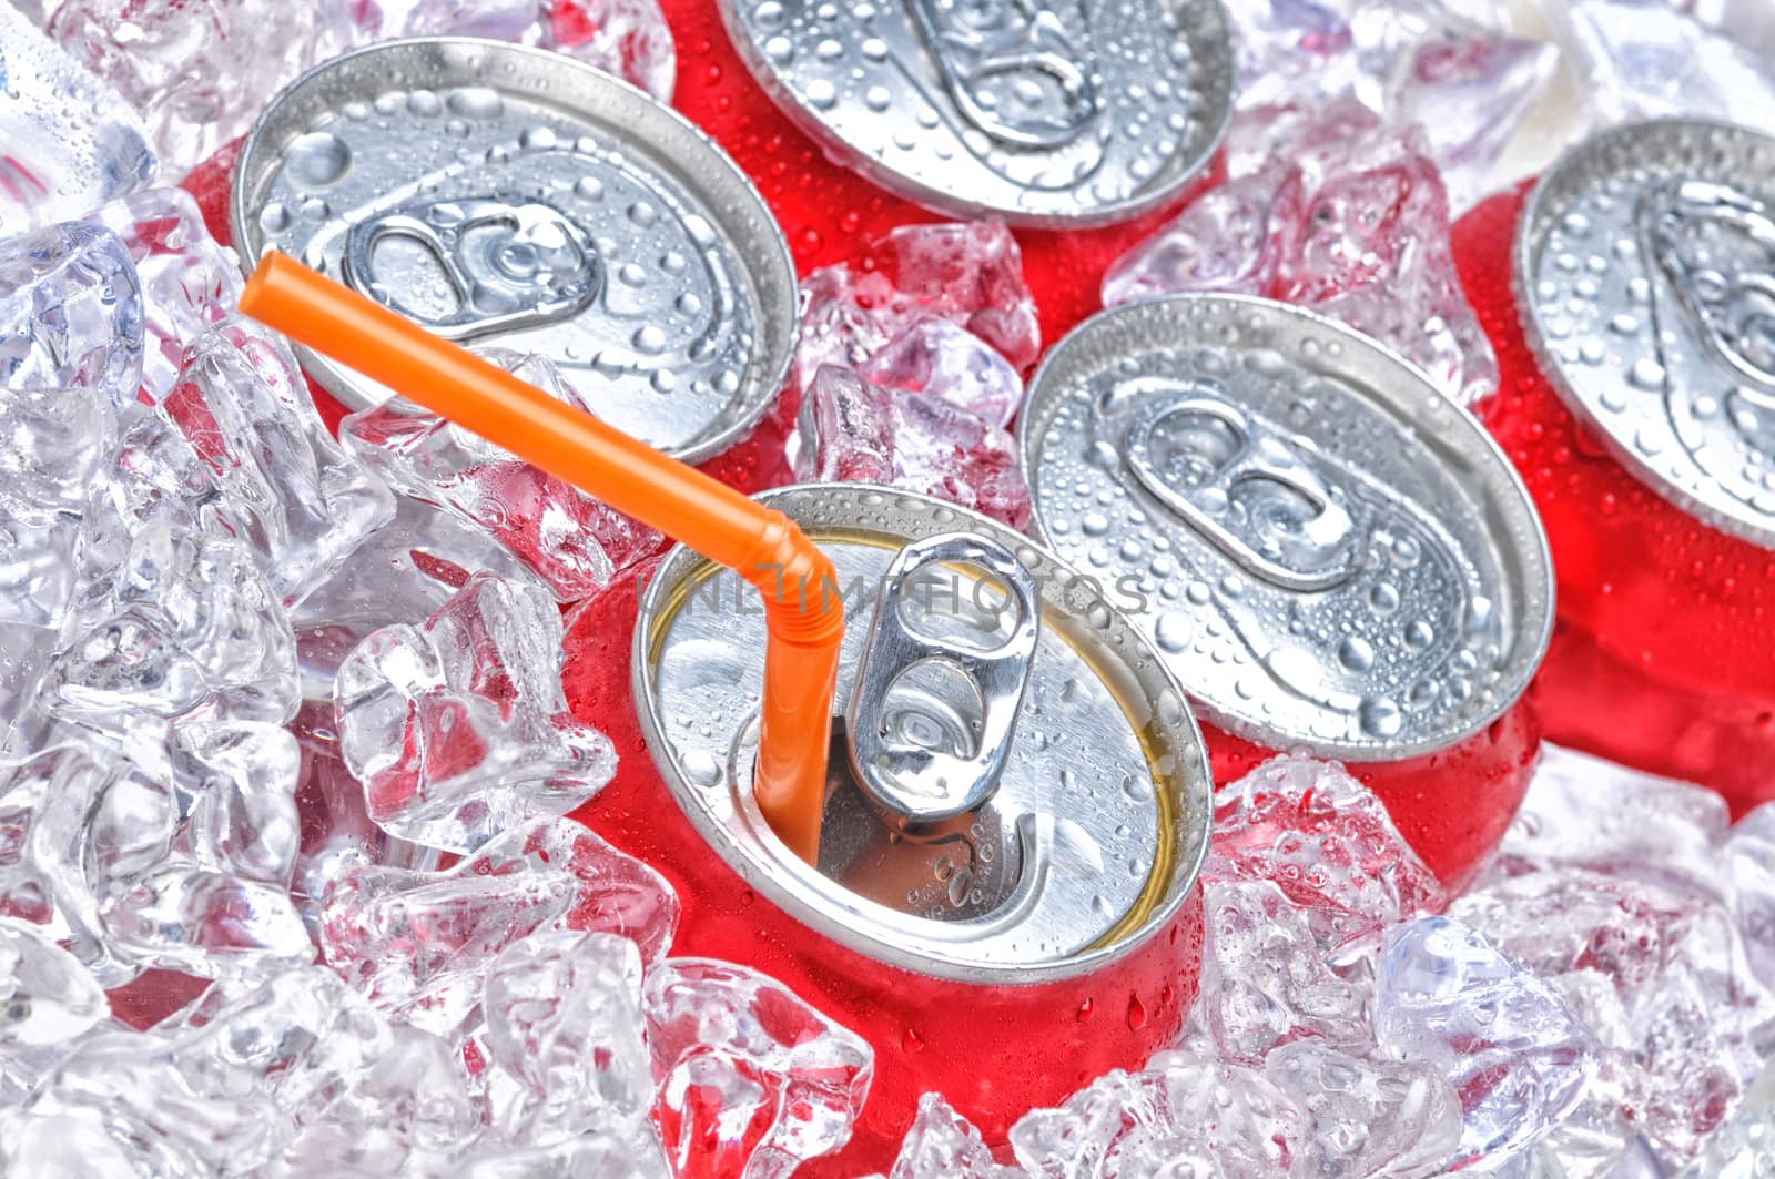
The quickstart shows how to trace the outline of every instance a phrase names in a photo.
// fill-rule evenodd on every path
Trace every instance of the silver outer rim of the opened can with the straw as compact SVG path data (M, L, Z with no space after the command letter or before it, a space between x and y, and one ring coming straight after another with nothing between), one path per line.
M880 495L889 504L898 501L902 504L927 510L932 513L934 520L944 526L937 531L966 529L969 533L985 534L1017 552L1019 561L1024 561L1028 554L1044 566L1053 566L1054 570L1072 575L1074 579L1077 577L1077 572L1070 565L1061 561L1045 547L1031 542L1022 533L1017 533L1005 524L967 508L902 488L880 487L873 483L793 483L760 492L753 499L785 511L790 518L797 518L793 513L795 504L792 501L799 497L824 497L831 494L863 497ZM898 540L900 543L909 543L911 540L916 540L911 536L895 536L889 531L868 531L889 542ZM937 534L937 531L932 534ZM854 893L847 893L797 859L788 847L770 835L761 817L754 815L753 822L747 826L758 833L758 842L761 849L769 852L769 858L742 847L728 826L714 819L710 811L699 804L698 788L667 753L666 724L653 694L653 664L648 659L648 648L653 639L653 623L662 616L673 588L689 574L694 574L708 565L710 561L701 554L683 545L673 545L659 570L648 581L646 591L641 597L641 609L630 645L630 694L634 696L635 716L641 721L641 733L646 742L648 755L653 758L653 765L659 771L660 779L666 783L673 803L676 803L683 815L690 820L690 826L703 838L703 842L717 856L721 856L721 859L733 872L744 877L751 888L763 893L790 918L801 922L816 934L829 938L831 941L900 969L983 985L1035 985L1088 975L1134 953L1140 946L1156 938L1191 897L1202 875L1202 865L1207 859L1209 831L1214 819L1214 781L1209 769L1207 746L1202 740L1202 730L1196 724L1195 712L1189 708L1189 698L1182 685L1179 685L1170 664L1159 655L1159 652L1150 648L1147 639L1140 636L1140 632L1136 632L1118 611L1104 604L1100 598L1095 598L1093 604L1104 605L1109 620L1108 627L1104 627L1108 637L1100 645L1100 650L1118 661L1118 669L1122 673L1140 680L1150 692L1150 703L1154 708L1152 726L1168 732L1173 737L1172 751L1187 758L1187 764L1180 764L1172 772L1179 801L1175 826L1177 835L1182 836L1179 840L1175 866L1172 870L1164 898L1145 916L1140 927L1129 930L1125 936L1109 945L1088 948L1058 962L982 964L976 961L955 961L937 952L907 950L905 946L895 945L893 941L870 932L870 929L891 932L895 925L905 925L909 922L930 925L944 923L888 909L856 897ZM1065 598L1061 597L1063 590L1056 588L1053 590L1053 595L1049 593L1049 586L1053 584L1056 582L1051 581L1042 586L1042 600L1065 605ZM1134 662L1127 653L1131 648L1138 650L1145 659ZM1170 700L1175 700L1173 717L1163 716L1166 710L1163 705L1166 692L1170 692ZM751 792L740 794L746 799L751 797ZM756 806L747 806L746 810L756 811ZM827 900L827 897L834 897L836 893L854 897L854 900L848 902L852 907L848 916L840 907L838 900ZM875 916L875 922L868 929L863 927L856 916L856 909L863 906L870 911L879 911L880 914L868 914Z

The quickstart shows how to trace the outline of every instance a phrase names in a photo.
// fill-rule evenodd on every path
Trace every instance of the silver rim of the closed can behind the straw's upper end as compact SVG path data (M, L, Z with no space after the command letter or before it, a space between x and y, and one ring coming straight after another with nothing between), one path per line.
M490 71L483 71L472 80L463 76L460 85L492 85L508 94L517 89L522 98L593 121L609 130L625 149L639 147L651 167L669 174L685 190L703 199L710 218L735 243L735 257L740 261L740 270L756 304L761 346L758 360L749 366L756 369L756 376L753 376L754 389L744 398L744 410L722 430L699 439L694 446L666 453L682 462L698 463L744 439L788 382L801 330L801 281L783 227L753 179L706 131L646 91L563 53L486 37L401 37L341 53L302 73L259 112L229 174L229 233L234 238L234 252L241 270L252 273L264 254L254 213L264 185L277 176L284 149L298 135L311 130L314 115L337 108L337 98L323 103L318 87L341 71L369 73L364 66L366 59L414 53L435 55L437 60L431 66L440 75L447 71L465 71L467 75L467 71L476 69L467 60L469 55L479 55L481 60L492 62L504 59L536 66L552 83L547 92L517 89L538 76L538 71L527 73L524 69L513 69L497 80L486 76ZM451 55L463 55L463 60L451 60ZM566 80L572 80L573 85L566 87ZM572 99L588 96L605 101L611 107L609 114L593 115L584 103L572 105ZM735 224L740 224L746 233L735 233ZM490 336L481 343L499 344L499 336ZM355 412L375 405L359 391L362 378L351 369L295 341L291 346L304 371L312 375L348 410Z

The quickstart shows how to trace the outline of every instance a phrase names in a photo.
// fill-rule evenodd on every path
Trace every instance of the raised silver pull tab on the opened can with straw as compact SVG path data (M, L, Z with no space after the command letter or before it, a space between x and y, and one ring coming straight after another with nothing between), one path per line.
M992 797L1040 618L1035 579L994 540L948 533L900 550L845 714L852 769L877 806L935 822Z

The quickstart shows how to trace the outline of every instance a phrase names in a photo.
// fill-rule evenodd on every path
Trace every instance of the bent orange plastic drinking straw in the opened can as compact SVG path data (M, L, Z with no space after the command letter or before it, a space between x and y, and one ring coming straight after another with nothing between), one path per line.
M845 611L825 591L832 563L793 520L286 254L264 256L240 309L758 586L770 641L753 790L777 838L816 861Z

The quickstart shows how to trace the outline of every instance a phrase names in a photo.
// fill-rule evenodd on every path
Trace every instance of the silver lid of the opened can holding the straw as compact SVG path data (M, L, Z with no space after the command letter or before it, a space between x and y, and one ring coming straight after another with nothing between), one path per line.
M1088 581L987 517L861 483L760 501L832 559L845 598L820 863L799 861L753 801L758 591L680 547L643 598L634 692L703 838L802 923L948 978L1072 977L1163 929L1205 854L1212 783L1159 653ZM857 756L884 744L953 756L889 758L889 781L870 783Z

